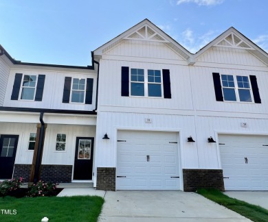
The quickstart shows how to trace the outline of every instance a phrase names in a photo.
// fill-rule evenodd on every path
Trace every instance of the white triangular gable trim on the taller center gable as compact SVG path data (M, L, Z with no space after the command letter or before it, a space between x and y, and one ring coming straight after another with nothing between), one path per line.
M150 42L169 42L161 36L159 33L155 32L151 27L148 25L144 25L141 28L137 29L137 31L132 32L124 39L129 40L142 40L142 41L150 41Z

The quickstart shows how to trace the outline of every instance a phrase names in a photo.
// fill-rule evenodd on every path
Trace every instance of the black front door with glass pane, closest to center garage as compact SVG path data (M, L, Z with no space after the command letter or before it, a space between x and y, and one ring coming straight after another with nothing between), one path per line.
M93 167L93 137L76 137L74 180L91 180Z

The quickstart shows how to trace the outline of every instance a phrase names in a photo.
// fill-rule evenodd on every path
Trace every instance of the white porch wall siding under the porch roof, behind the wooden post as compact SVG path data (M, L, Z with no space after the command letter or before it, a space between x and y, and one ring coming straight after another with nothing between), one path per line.
M28 150L30 133L36 133L34 123L0 123L0 135L19 135L15 164L32 164L33 150ZM56 151L57 134L66 134L65 151ZM96 137L96 127L88 125L48 124L45 132L42 164L74 164L76 136Z

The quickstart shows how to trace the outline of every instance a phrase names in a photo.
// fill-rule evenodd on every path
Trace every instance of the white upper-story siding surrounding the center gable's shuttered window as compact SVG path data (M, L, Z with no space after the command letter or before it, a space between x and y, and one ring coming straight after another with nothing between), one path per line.
M132 108L140 112L140 108L147 108L146 112L166 112L166 110L192 110L192 97L190 89L190 77L188 66L177 66L173 64L159 64L148 62L126 62L117 60L101 60L100 85L98 110L113 110L113 108ZM129 66L134 69L170 70L170 88L172 99L150 98L150 97L122 97L121 96L121 67ZM153 109L152 109L153 108ZM174 114L176 112L173 112Z

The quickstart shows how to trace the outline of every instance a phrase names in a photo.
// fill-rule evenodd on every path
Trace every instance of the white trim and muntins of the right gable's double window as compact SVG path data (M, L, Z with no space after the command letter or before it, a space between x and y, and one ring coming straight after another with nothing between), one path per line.
M249 79L249 75L240 75L240 74L221 74L222 75L232 75L234 77L234 87L227 87L227 86L223 86L223 79L221 78L221 91L223 93L223 88L234 88L234 93L236 95L236 101L230 101L230 100L225 100L224 99L224 93L223 93L223 101L225 102L230 102L230 103L254 103L254 97L253 97L253 93L252 93L252 82ZM238 83L237 83L237 79L236 76L246 76L249 79L249 88L238 88ZM250 97L252 98L251 102L247 102L247 101L240 101L240 97L239 97L239 93L238 93L238 89L246 89L249 90L250 93Z

